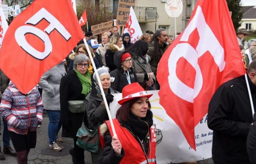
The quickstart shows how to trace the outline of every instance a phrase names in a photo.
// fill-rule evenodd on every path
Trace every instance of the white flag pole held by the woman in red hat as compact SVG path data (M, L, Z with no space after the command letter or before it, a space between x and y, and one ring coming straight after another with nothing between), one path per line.
M116 135L116 130L114 129L113 120L112 120L112 117L111 117L111 114L110 114L108 102L107 102L107 99L106 99L106 97L105 97L105 93L104 93L103 87L102 87L102 85L101 85L101 80L99 79L99 74L98 74L98 72L97 72L95 63L94 63L94 61L93 61L93 56L91 55L90 48L89 48L89 46L88 46L88 44L87 44L85 38L83 38L83 41L84 41L86 50L87 50L87 52L88 52L88 54L89 54L89 57L90 57L90 60L91 60L91 64L93 65L94 73L96 74L96 78L97 78L97 81L98 81L98 84L99 84L99 89L101 90L102 98L103 98L104 104L105 104L105 106L106 106L106 110L107 110L107 113L108 113L108 116L109 116L109 121L110 121L110 125L111 125L111 128L112 128L113 134L114 134L114 136L117 136L117 135Z

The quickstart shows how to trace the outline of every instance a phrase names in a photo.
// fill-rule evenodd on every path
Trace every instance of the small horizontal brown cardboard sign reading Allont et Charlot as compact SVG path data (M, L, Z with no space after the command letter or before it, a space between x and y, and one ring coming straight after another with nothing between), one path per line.
M112 28L113 28L113 20L110 20L108 22L91 26L91 31L93 32L93 35L98 35L98 34L103 34L104 32L109 32L112 30Z

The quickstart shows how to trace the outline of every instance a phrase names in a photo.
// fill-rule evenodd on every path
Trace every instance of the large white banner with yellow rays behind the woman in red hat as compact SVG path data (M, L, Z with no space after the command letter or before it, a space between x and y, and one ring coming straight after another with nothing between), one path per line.
M194 151L188 145L178 125L166 114L165 109L159 104L158 90L147 91L147 93L153 94L150 98L150 104L151 111L153 112L155 133L157 135L157 163L181 163L210 158L212 130L207 126L207 115L195 127L196 151ZM117 101L122 99L122 94L113 95L114 100L110 103L110 113L115 118L116 111L120 107Z

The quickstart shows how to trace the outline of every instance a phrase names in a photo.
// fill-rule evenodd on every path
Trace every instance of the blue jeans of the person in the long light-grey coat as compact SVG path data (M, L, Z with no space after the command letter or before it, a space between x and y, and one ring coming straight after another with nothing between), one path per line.
M57 134L61 128L60 122L60 111L59 110L46 110L49 116L49 125L48 125L48 136L49 144L52 145L52 142L56 142Z

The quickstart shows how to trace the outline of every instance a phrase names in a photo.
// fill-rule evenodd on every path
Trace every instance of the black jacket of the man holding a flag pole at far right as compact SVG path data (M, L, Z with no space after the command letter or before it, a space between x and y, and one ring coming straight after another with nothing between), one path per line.
M256 86L248 78L254 109ZM212 160L225 164L249 164L246 137L252 110L244 75L222 84L214 93L207 124L213 130Z

